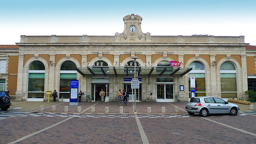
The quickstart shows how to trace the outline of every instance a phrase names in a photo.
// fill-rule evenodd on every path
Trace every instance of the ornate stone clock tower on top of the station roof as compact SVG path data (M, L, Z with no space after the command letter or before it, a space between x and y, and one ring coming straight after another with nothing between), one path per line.
M151 42L150 33L144 34L141 31L142 17L139 15L127 15L124 20L124 32L116 32L115 41L119 42Z

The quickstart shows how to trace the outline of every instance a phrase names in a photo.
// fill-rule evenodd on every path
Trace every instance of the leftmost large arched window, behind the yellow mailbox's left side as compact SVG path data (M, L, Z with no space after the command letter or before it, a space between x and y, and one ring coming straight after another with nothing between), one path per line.
M44 98L44 64L34 61L28 69L28 98Z

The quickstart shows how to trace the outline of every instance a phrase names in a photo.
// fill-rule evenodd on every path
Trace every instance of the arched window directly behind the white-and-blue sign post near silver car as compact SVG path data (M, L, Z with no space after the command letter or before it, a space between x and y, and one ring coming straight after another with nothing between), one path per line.
M206 96L204 65L201 62L192 62L189 65L189 68L192 68L192 70L188 73L189 92L190 78L194 77L196 84L196 96Z

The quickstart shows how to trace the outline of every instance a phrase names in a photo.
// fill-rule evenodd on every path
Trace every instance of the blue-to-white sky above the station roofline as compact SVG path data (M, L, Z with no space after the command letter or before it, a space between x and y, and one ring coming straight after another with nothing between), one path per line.
M256 0L0 0L0 44L26 36L114 36L142 17L151 36L245 36L256 45Z

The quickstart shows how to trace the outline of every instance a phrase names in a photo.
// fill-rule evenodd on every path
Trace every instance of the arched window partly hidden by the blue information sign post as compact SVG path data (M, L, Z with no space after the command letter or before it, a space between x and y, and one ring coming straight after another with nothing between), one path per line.
M72 61L66 61L60 66L60 98L69 99L70 80L76 80L75 67L76 64Z

